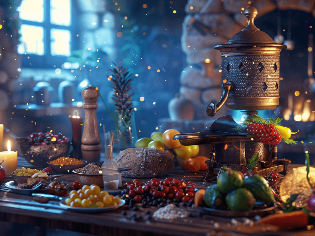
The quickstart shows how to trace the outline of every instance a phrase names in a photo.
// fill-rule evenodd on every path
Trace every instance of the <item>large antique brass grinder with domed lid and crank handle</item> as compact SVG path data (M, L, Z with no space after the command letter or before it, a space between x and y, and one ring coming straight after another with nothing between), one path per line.
M257 10L245 10L248 25L227 43L215 46L222 53L222 96L218 104L210 103L207 114L214 116L225 104L227 109L241 110L242 120L257 110L274 110L279 104L279 58L286 48L254 25ZM287 173L290 160L277 158L277 145L271 149L255 134L239 132L231 115L214 121L209 130L175 135L182 145L210 144L210 161L204 181L214 175L214 168L231 167L240 171L248 159L259 153L253 174Z

